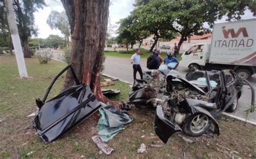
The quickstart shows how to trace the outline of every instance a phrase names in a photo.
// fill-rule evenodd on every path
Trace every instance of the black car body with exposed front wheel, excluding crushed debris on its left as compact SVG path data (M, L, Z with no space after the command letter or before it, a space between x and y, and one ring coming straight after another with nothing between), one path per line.
M173 133L183 131L189 136L200 136L214 125L214 134L219 135L215 118L222 112L234 112L241 96L244 79L238 79L233 70L193 71L180 76L171 70L166 76L168 98L158 105L154 129L166 143ZM254 89L252 105L254 105Z

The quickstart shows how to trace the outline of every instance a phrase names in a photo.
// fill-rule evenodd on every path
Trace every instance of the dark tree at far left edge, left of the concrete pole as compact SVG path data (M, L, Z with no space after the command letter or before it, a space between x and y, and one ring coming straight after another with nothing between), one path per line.
M11 34L9 31L4 0L0 0L0 47L8 47L9 53L14 55L12 53Z

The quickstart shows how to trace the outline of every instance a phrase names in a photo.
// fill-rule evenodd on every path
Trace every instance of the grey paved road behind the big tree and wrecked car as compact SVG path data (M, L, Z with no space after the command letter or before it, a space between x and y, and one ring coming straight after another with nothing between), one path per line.
M103 71L104 74L110 75L112 77L116 77L122 79L126 82L133 82L133 70L132 65L130 64L129 59L119 58L119 57L111 57L107 56L105 60L105 69ZM146 60L142 60L141 62L142 69L146 69ZM178 71L181 75L185 77L187 73L187 69L184 67L178 67ZM137 78L139 78L139 74L137 73ZM254 90L256 92L256 75L254 75L250 82L254 86ZM248 109L251 105L251 90L248 86L244 86L242 89L242 96L239 99L238 110L234 113L229 113L231 115L235 115L239 118L245 118L244 111ZM256 112L250 113L248 120L256 123Z

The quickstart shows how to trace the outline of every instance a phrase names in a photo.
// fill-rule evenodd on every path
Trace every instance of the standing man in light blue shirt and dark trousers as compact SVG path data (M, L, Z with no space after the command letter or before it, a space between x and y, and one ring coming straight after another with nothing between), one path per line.
M137 71L139 72L140 79L143 79L143 73L142 68L140 67L140 55L139 55L139 49L135 49L135 53L131 57L131 64L133 68L133 79L136 79Z

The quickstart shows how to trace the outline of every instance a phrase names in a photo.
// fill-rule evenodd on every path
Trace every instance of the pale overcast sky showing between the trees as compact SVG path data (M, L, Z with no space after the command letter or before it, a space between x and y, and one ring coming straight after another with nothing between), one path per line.
M117 23L120 19L127 17L130 12L134 9L132 5L134 0L110 0L111 5L109 8L109 16L111 24ZM55 11L64 11L62 3L59 0L45 0L45 3L48 5L44 7L43 10L35 12L35 23L39 29L39 38L47 38L50 34L57 34L63 37L63 35L58 30L51 30L51 28L46 24L46 20L52 10ZM245 15L242 16L242 19L251 19L253 17L250 11L245 11ZM225 19L217 21L217 23L223 23Z

